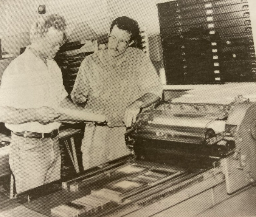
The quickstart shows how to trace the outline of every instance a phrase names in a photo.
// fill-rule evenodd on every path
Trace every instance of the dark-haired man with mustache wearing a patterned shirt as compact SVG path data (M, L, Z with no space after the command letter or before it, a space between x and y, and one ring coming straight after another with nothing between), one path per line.
M81 150L84 169L129 154L124 133L141 108L162 95L159 77L143 53L138 23L118 17L105 50L87 56L78 71L71 98L108 117L108 126L85 127ZM124 123L124 124L123 124Z

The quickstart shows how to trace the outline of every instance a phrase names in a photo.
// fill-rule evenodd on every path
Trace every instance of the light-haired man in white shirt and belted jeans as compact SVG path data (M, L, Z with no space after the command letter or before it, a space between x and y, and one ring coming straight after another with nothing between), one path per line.
M38 19L30 30L31 45L3 73L0 105L6 115L23 115L16 121L5 117L12 131L9 163L17 193L61 178L56 109L78 107L67 98L61 69L53 60L65 42L65 28L60 15Z

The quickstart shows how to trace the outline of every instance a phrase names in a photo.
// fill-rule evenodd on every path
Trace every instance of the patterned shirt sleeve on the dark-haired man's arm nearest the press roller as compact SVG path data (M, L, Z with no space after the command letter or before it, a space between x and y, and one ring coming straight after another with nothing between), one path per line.
M163 87L155 67L146 54L143 53L141 59L138 73L138 85L141 96L146 93L152 93L162 98Z

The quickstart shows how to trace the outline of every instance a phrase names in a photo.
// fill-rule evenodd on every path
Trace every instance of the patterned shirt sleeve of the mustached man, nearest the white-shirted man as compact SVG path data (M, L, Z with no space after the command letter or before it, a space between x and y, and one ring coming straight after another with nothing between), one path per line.
M74 97L74 93L82 93L84 96L87 96L90 90L90 84L88 80L88 67L89 67L88 58L85 58L78 70L76 75L76 81L74 82L73 90L70 93L71 99Z

